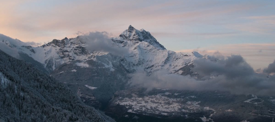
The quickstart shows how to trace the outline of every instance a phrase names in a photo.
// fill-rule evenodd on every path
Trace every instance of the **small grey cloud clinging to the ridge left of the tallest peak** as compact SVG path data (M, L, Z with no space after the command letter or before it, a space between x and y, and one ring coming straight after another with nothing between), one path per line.
M125 55L129 51L128 48L113 43L107 32L89 32L87 34L78 32L78 34L82 34L79 38L87 44L86 49L88 50L109 52L114 55Z

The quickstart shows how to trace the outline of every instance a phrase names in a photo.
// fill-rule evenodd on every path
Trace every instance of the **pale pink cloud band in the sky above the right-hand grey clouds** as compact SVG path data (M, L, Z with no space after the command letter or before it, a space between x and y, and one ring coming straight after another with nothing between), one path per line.
M193 49L185 49L176 52L192 52ZM213 45L208 47L196 48L202 55L213 55L218 58L223 56L241 55L254 68L264 68L275 57L275 43L244 43L244 44L225 44ZM219 53L217 53L217 51Z

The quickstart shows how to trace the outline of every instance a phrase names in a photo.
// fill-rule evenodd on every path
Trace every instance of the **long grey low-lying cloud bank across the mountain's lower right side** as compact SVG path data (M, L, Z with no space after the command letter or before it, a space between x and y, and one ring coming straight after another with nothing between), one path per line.
M274 73L275 63L270 64L264 73ZM213 62L199 59L192 69L202 76L199 80L190 76L170 74L165 70L149 76L144 72L132 74L131 85L148 88L170 88L176 90L230 91L233 94L274 95L275 76L257 74L242 56L232 55Z

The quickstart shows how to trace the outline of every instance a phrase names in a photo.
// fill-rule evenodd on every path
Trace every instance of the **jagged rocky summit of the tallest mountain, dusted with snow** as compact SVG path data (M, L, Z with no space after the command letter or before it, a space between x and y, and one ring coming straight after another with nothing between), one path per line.
M166 48L164 48L164 46L161 45L148 31L145 31L144 29L137 30L132 25L122 32L119 37L131 41L134 44L145 41L156 48L166 50Z

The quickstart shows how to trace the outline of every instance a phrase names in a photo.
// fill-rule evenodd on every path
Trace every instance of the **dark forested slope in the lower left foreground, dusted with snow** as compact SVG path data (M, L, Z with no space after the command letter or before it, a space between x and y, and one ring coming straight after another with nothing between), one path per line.
M0 121L114 121L64 84L0 50Z

